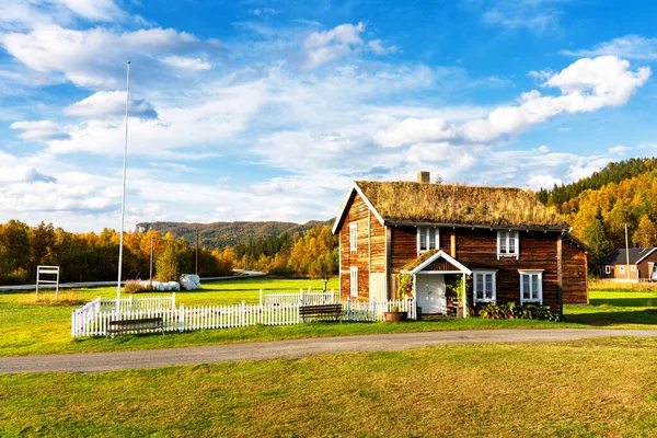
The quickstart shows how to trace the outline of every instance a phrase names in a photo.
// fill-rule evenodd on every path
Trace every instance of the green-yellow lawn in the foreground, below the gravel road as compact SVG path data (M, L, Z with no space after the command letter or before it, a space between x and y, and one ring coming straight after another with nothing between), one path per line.
M0 376L0 436L648 437L657 339Z

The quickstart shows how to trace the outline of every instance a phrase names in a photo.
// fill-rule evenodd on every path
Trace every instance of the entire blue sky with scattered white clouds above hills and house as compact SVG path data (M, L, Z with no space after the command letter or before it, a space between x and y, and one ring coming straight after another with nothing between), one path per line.
M657 151L657 2L0 3L0 221L336 216L353 180L538 189Z

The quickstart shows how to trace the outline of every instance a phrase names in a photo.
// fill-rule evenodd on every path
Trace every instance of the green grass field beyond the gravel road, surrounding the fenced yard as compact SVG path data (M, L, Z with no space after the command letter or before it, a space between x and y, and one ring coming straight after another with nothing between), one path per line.
M201 291L178 292L185 306L258 301L258 290L297 292L299 288L322 288L320 280L241 279L204 285ZM337 289L332 279L328 289ZM62 298L89 301L99 296L112 298L114 288L64 291ZM438 330L512 328L512 327L590 327L654 328L657 326L657 290L591 290L591 306L565 309L566 322L486 321L479 319L418 321L407 323L314 323L291 326L253 326L230 330L196 331L182 334L118 336L115 339L72 341L71 311L76 306L46 306L34 302L33 293L0 293L0 356L73 351L104 351L205 345L234 342L289 339L312 336L337 336ZM43 297L43 295L42 295ZM51 298L51 292L46 299Z

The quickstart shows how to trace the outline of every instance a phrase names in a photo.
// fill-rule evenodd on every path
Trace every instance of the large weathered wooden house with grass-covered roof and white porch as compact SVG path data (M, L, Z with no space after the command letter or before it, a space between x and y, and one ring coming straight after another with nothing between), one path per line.
M445 314L448 285L459 277L474 306L562 311L588 303L586 249L569 230L520 188L431 184L428 172L417 182L357 181L333 227L341 293L395 299L405 273L423 313Z

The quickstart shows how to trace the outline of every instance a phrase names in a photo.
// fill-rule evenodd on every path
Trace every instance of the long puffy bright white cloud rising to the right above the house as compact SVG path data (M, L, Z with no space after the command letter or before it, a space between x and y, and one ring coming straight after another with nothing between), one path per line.
M497 107L486 118L469 120L461 126L445 119L406 119L380 130L373 139L383 147L416 141L496 141L558 114L588 113L624 105L649 77L649 68L641 67L633 71L630 62L612 56L578 59L543 84L558 89L562 93L558 96L542 95L532 90L520 96L520 105Z

